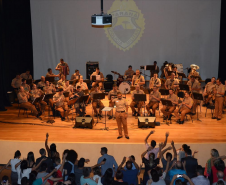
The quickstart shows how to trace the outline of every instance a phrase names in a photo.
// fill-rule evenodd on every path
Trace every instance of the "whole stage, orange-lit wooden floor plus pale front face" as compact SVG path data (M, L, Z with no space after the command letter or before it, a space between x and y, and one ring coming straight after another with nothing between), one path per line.
M130 95L127 95L126 99L128 103L131 101ZM105 106L108 106L107 96L103 100ZM180 148L182 144L186 143L191 146L191 149L198 150L199 153L196 157L201 165L205 165L205 162L210 156L210 149L216 148L220 155L226 154L226 118L223 114L223 118L220 121L211 119L210 110L207 111L205 117L206 108L201 108L201 114L199 112L199 118L193 116L193 122L188 117L183 125L176 123L175 118L172 119L172 124L167 125L163 122L162 114L159 111L156 112L156 121L160 122L160 126L156 126L154 129L138 128L138 119L132 116L131 109L129 108L128 116L128 131L130 139L122 138L117 139L118 130L116 120L108 120L107 127L109 130L102 130L105 125L105 118L102 118L100 122L96 123L94 118L93 129L73 129L75 121L64 121L60 118L55 118L55 123L46 123L48 111L46 110L42 115L42 121L30 115L23 115L21 111L18 117L18 105L14 104L12 107L7 107L7 111L0 112L0 127L1 127L1 154L0 164L5 164L10 158L13 158L14 152L20 150L22 158L26 157L29 151L35 153L35 158L39 157L39 149L45 147L45 135L49 133L49 144L56 143L57 150L62 154L64 149L74 149L78 152L79 157L85 157L90 159L90 164L96 163L100 156L100 148L106 146L109 149L109 154L115 156L118 163L121 162L123 156L135 155L137 162L140 164L140 154L145 151L144 139L151 130L155 130L155 133L151 135L151 139L155 139L157 143L163 142L165 139L165 132L169 132L168 145L173 140L176 148ZM162 105L160 105L161 109ZM200 108L199 108L200 111ZM74 112L74 110L73 110ZM87 106L87 114L92 115L92 106ZM105 115L105 113L103 112ZM70 114L69 118L75 116Z

